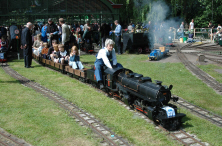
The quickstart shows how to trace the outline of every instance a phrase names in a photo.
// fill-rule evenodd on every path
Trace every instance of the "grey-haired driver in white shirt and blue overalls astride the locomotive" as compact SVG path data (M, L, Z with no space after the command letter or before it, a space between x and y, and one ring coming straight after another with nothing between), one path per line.
M102 68L106 66L108 68L119 68L123 67L121 64L117 63L115 49L113 48L115 42L111 39L106 39L105 47L99 50L95 61L95 75L100 89L104 88L103 78L102 78Z

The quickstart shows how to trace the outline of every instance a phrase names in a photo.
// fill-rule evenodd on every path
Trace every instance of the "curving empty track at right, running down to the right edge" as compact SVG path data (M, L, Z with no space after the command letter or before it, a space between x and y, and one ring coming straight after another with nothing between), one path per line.
M213 77L209 76L207 73L196 67L193 63L188 61L187 57L184 53L181 52L181 49L185 48L177 48L177 56L181 60L181 62L186 66L188 70L190 70L194 75L196 75L199 79L201 79L204 83L206 83L209 87L214 89L218 94L222 95L222 84L217 82Z

